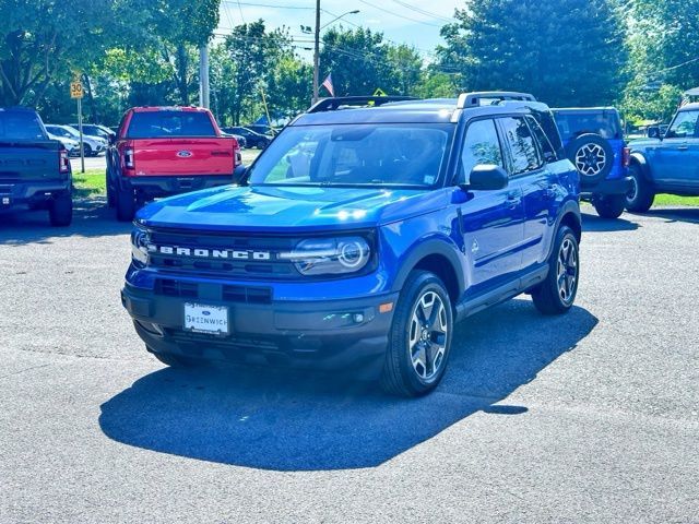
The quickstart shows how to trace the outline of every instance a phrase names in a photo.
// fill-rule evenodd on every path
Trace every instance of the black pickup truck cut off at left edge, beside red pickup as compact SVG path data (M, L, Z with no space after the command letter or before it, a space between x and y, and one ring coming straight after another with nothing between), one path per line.
M69 226L72 184L68 151L36 111L0 107L0 213L43 209L52 226Z

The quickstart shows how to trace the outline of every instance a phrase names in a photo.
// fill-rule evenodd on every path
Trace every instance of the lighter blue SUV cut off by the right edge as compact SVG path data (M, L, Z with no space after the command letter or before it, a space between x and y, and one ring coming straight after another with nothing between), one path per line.
M664 135L629 145L629 211L647 212L656 193L699 195L699 103L679 108Z

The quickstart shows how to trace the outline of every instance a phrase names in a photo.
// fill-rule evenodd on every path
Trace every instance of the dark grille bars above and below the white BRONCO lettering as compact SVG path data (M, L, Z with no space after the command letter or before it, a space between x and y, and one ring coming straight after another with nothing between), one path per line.
M262 235L215 235L189 234L187 231L151 230L150 240L155 246L169 246L205 250L244 250L251 252L275 253L291 251L295 240L284 237ZM287 260L233 260L230 258L180 257L164 253L151 253L150 265L178 273L192 273L201 276L226 276L241 279L293 279L300 274L293 262Z

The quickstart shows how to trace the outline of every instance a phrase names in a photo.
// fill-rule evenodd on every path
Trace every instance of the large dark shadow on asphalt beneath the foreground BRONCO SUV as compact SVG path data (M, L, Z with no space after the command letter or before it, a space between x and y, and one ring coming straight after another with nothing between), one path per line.
M511 300L459 324L445 380L417 400L337 376L260 369L163 369L103 404L109 438L163 453L274 471L377 466L496 405L596 325L582 308L540 315Z

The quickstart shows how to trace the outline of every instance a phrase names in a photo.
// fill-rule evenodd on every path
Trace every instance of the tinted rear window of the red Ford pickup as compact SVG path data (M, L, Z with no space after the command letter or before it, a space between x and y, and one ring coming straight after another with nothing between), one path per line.
M194 111L134 112L127 130L129 139L167 136L215 136L209 115Z

